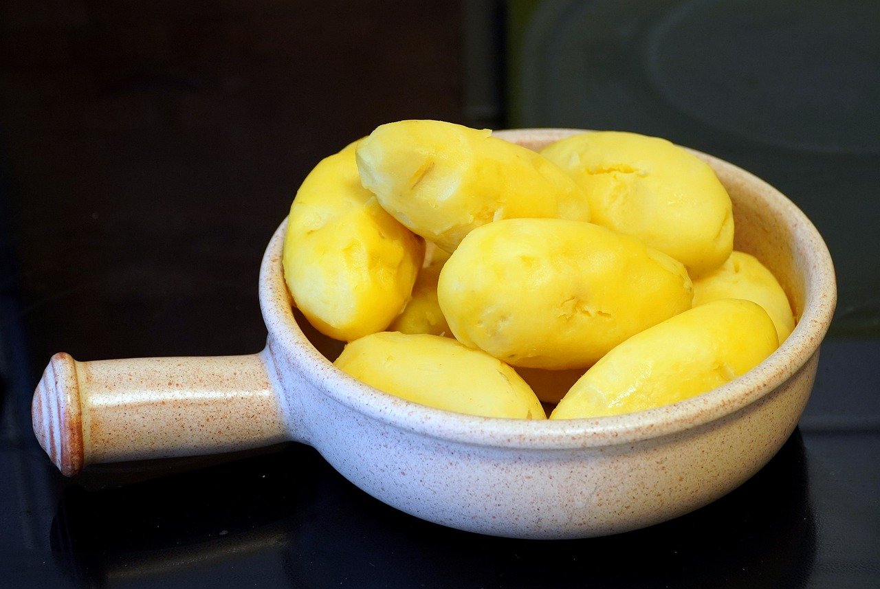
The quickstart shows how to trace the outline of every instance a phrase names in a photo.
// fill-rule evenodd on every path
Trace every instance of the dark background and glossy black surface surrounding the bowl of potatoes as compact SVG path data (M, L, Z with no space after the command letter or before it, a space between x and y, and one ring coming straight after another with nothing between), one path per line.
M880 585L878 7L0 2L0 586ZM293 444L63 479L29 418L49 356L259 350L302 178L407 118L663 135L795 200L840 305L774 461L580 542L414 520Z

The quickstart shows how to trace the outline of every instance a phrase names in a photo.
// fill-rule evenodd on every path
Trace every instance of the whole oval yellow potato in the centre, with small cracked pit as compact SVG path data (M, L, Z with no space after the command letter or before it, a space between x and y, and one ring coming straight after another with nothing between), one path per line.
M517 367L588 367L690 309L685 266L592 223L508 219L474 229L437 297L452 333Z

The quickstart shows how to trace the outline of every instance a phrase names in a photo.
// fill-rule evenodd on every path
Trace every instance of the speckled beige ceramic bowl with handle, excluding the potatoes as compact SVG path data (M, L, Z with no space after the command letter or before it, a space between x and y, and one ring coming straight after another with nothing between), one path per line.
M496 135L540 149L580 132ZM338 343L297 324L282 278L282 223L260 270L263 353L100 362L57 354L34 395L34 431L68 475L90 462L296 440L385 503L481 534L580 538L693 511L742 484L788 439L836 300L831 258L803 213L759 178L697 155L730 192L737 249L774 272L799 317L770 358L705 395L545 422L458 415L386 395L336 369L328 357Z

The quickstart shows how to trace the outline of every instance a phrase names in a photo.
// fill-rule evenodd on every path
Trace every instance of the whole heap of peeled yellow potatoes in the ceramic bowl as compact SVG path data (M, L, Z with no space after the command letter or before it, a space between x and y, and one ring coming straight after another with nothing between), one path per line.
M404 120L305 178L283 267L357 379L448 411L543 419L543 401L570 419L714 389L788 337L779 283L732 250L728 193L671 142L594 132L536 153Z

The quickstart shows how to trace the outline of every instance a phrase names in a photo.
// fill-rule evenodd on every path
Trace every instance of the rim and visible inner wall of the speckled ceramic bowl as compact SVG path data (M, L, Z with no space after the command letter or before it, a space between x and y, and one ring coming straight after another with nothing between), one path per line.
M530 149L540 149L562 137L583 132L517 129L495 135ZM798 319L796 330L770 358L750 373L710 393L639 413L546 422L476 418L386 395L332 367L330 363L341 353L344 344L319 333L297 309L291 311L281 267L284 224L269 244L260 279L260 301L270 334L297 353L309 348L305 350L307 360L300 369L307 373L306 378L320 382L326 394L359 411L381 415L385 420L398 420L400 425L424 430L423 424L428 421L433 424L435 435L451 438L469 440L473 430L479 429L484 437L506 440L499 442L500 445L583 446L599 445L603 440L621 443L672 433L737 411L779 386L818 350L836 302L833 267L818 231L790 200L732 164L697 151L693 153L712 166L730 193L735 249L751 253L774 273ZM415 425L416 422L421 425ZM589 440L571 441L588 435Z

